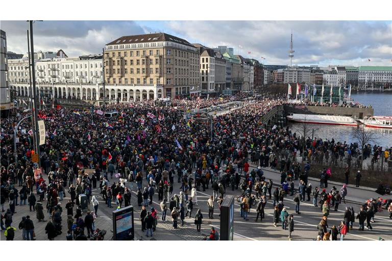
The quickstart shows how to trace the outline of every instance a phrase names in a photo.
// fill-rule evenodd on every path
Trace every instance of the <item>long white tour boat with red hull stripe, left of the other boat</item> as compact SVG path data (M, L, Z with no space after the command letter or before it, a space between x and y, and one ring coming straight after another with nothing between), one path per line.
M313 124L330 124L330 125L347 125L356 126L358 123L351 117L334 116L334 115L310 115L310 114L292 114L287 119L294 122L313 123Z

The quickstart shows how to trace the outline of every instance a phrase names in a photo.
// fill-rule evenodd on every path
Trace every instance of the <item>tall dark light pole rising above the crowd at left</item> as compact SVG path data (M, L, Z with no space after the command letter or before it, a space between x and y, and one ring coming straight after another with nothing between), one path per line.
M39 136L38 136L38 113L37 113L37 89L35 86L35 65L34 65L34 37L33 37L33 21L29 20L30 28L30 51L31 51L31 82L33 84L33 140L34 140L34 151L38 155L39 159ZM38 160L38 166L40 162Z

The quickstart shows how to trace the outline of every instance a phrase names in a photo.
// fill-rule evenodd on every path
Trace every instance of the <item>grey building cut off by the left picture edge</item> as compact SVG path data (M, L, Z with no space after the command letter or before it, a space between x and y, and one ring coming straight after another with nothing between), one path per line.
M2 117L7 117L14 107L8 87L8 59L7 59L7 35L0 30L0 113Z

